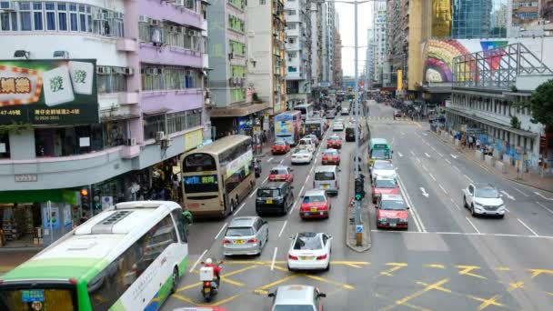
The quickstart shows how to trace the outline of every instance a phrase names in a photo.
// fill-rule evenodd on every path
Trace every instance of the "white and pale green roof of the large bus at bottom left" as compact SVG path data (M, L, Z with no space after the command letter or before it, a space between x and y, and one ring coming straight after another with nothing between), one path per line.
M117 204L0 278L89 280L176 208L180 206L167 201Z

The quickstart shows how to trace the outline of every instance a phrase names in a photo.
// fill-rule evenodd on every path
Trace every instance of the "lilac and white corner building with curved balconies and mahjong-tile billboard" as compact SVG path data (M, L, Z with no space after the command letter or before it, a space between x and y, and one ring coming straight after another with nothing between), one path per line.
M12 4L0 10L0 67L34 96L0 95L27 103L0 118L0 213L20 233L7 246L43 246L120 201L178 200L162 185L209 134L205 5Z

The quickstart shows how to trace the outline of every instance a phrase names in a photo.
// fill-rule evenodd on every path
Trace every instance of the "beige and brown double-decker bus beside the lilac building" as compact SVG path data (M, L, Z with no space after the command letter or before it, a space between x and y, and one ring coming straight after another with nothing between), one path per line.
M180 157L185 209L194 216L231 214L256 187L252 138L229 135Z

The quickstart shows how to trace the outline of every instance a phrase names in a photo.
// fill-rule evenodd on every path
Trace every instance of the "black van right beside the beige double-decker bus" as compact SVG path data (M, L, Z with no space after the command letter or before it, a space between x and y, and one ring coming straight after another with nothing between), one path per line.
M264 215L277 213L286 215L294 206L294 189L287 182L271 182L257 189L256 213Z

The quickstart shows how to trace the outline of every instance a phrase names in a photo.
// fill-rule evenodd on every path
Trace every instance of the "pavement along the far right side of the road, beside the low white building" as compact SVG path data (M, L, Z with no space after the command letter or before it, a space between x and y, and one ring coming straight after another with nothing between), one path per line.
M478 166L482 167L489 173L501 176L518 184L531 186L539 190L553 193L553 176L542 177L538 174L518 173L516 166L505 164L498 160L482 160L479 156L477 156L476 149L469 149L467 146L455 145L451 141L451 135L447 135L447 137L445 137L444 135L438 135L433 131L430 131L430 133L436 135L437 138L439 138L443 143L456 149L468 159L476 162Z

